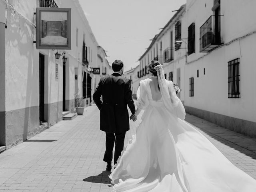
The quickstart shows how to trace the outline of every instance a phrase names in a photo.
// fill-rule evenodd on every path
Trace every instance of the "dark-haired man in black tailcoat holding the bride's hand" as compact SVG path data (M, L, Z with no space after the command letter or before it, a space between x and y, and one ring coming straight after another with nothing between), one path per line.
M93 94L93 100L100 110L100 130L106 132L106 151L103 161L107 162L106 170L111 171L114 143L114 164L124 148L125 132L130 129L127 105L136 120L135 106L132 99L131 80L122 76L124 64L120 60L112 63L114 73L100 79ZM100 100L102 96L103 102Z

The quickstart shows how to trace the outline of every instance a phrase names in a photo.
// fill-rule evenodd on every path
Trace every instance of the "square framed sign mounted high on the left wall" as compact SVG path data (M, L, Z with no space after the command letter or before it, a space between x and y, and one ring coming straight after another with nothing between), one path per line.
M71 49L70 8L36 8L36 48Z

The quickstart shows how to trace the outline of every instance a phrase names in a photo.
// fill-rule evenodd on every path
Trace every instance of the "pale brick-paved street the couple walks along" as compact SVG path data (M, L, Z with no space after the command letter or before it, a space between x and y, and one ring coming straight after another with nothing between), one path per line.
M141 116L141 115L140 115ZM131 122L126 143L140 123ZM202 132L233 164L256 179L256 140L187 114L186 121ZM0 154L0 191L109 192L102 161L105 133L99 130L95 105L83 116L62 121Z

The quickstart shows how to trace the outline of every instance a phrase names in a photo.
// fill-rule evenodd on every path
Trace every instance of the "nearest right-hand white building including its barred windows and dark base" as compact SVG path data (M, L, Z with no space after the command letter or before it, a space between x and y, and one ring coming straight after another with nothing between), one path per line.
M252 137L256 137L255 7L254 0L187 0L186 8L187 27L195 26L194 37L188 37L194 41L194 51L185 71L186 111Z

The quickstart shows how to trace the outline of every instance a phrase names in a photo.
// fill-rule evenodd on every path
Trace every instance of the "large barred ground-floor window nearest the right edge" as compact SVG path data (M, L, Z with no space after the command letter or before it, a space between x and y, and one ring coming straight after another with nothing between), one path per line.
M228 62L228 98L240 98L239 64L239 58Z

